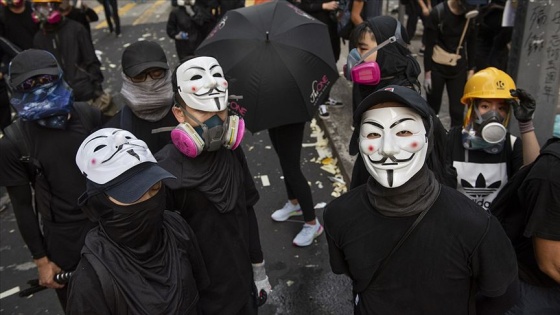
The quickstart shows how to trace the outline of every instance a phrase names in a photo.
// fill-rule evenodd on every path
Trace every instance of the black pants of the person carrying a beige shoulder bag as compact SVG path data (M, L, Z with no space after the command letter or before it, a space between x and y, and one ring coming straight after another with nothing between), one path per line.
M463 112L465 105L461 103L463 89L467 83L467 73L462 72L453 78L446 78L437 71L432 71L432 91L427 95L428 104L436 114L439 114L441 108L441 99L443 96L443 88L447 88L447 96L449 97L449 116L451 116L451 127L461 126L463 124Z

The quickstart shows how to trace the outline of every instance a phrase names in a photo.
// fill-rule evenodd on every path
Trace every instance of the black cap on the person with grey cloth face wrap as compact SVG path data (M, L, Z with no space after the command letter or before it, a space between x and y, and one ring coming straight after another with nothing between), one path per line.
M121 64L124 74L129 77L135 77L150 68L169 69L163 48L158 43L147 40L126 47Z

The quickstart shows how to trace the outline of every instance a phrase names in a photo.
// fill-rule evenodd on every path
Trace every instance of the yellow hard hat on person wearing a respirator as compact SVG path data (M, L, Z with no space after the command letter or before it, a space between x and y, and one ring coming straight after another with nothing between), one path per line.
M468 105L475 98L511 99L509 90L515 90L515 82L502 70L489 67L475 73L465 84L461 103Z

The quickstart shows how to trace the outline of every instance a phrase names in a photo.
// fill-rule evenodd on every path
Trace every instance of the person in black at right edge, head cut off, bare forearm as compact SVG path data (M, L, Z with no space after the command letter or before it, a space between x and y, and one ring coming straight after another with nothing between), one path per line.
M552 151L543 154L542 151ZM521 298L506 315L560 314L560 138L549 139L517 187L520 213L496 213L514 244ZM493 212L496 211L496 212ZM513 220L513 221L512 221ZM519 227L519 230L515 229ZM517 232L513 234L513 232Z

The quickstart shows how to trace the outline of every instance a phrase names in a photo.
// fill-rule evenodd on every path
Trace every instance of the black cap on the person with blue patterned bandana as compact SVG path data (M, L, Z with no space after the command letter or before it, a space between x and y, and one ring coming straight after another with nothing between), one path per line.
M10 86L15 89L25 80L37 75L61 75L62 69L50 52L28 49L17 54L10 62Z

